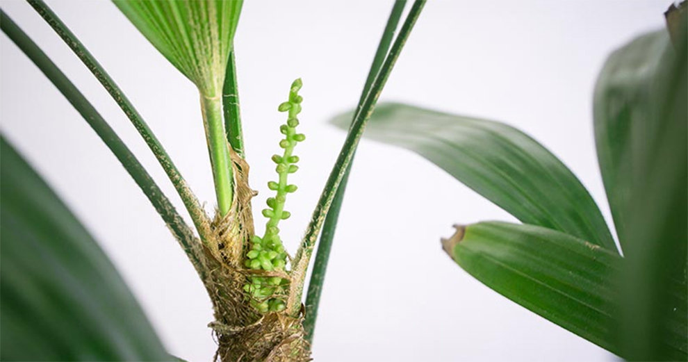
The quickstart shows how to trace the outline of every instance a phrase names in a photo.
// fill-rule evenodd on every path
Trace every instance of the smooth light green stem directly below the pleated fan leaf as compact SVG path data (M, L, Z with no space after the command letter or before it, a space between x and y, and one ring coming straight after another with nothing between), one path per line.
M218 197L220 215L229 213L233 195L232 165L229 157L229 143L222 123L222 100L220 97L201 95L203 124L206 129L206 141L213 167L215 196Z

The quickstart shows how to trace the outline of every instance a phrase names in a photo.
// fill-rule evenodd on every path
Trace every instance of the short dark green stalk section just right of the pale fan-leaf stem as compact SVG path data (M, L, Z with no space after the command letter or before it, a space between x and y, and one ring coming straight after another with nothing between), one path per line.
M241 130L241 113L239 109L239 90L236 83L234 47L229 51L227 72L224 74L222 106L224 107L224 129L227 131L229 145L231 145L231 148L234 149L239 156L244 158L244 135Z

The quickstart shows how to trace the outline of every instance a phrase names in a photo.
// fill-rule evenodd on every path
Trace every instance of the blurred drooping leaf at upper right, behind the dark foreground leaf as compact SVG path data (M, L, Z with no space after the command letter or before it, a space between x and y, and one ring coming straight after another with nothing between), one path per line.
M598 161L616 233L622 249L628 238L625 225L631 197L633 132L648 122L647 98L660 55L669 39L666 32L642 35L614 51L598 76L594 96L594 124Z

